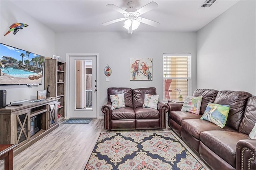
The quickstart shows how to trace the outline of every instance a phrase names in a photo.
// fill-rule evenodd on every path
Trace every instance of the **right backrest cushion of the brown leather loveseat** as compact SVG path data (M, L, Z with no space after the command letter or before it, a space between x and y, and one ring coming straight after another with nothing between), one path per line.
M155 87L132 89L133 108L142 107L144 94L156 95Z

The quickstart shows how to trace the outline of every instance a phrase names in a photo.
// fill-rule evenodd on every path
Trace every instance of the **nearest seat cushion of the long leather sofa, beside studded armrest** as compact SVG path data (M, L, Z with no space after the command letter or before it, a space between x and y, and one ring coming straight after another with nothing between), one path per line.
M247 134L230 131L210 130L200 134L201 142L220 158L236 167L236 143L248 139Z

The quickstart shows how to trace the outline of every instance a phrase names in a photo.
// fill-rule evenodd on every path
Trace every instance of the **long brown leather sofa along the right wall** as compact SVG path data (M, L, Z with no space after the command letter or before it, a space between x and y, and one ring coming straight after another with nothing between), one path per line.
M211 168L256 170L256 140L249 134L256 123L256 96L243 91L197 89L203 96L200 115L180 111L182 103L168 103L168 125ZM230 105L224 128L201 120L207 104Z

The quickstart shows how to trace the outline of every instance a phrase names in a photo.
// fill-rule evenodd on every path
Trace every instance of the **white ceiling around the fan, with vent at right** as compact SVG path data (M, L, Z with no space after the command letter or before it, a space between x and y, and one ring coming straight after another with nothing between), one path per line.
M108 26L102 23L122 18L119 12L108 8L114 4L128 8L131 0L10 0L24 12L54 32L123 32L124 21ZM152 0L134 0L134 8ZM209 8L200 8L205 0L154 0L158 7L142 14L141 17L160 22L154 28L140 24L135 32L194 32L214 20L238 0L217 0ZM29 25L29 23L26 23Z

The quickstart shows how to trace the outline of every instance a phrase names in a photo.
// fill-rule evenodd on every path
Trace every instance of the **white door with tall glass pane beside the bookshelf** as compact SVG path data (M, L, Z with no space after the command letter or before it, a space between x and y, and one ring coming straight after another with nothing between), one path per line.
M70 118L97 118L97 56L69 56Z

